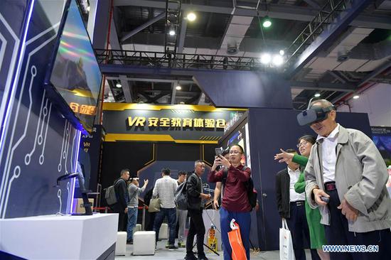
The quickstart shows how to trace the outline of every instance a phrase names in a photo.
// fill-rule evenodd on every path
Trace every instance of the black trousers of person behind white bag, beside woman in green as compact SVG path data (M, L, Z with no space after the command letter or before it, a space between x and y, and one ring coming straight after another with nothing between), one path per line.
M289 230L291 231L292 242L294 245L294 256L296 260L306 260L306 252L304 248L309 248L309 226L306 218L306 208L304 201L301 205L296 205L296 202L290 203L290 217L286 219ZM311 249L312 260L320 260L316 249Z

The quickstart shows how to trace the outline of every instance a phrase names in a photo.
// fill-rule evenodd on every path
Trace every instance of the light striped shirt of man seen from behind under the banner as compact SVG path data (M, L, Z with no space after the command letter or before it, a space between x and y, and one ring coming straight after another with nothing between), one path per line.
M160 197L161 207L166 209L176 207L175 202L173 201L176 188L178 188L178 183L168 175L156 180L153 195L154 197Z

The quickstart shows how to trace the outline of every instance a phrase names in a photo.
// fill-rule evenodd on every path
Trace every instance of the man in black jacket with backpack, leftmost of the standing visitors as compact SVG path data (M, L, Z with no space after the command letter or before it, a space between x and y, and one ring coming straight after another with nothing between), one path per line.
M121 170L121 177L114 181L114 190L117 203L111 206L114 213L118 213L118 231L127 231L127 180L129 170Z

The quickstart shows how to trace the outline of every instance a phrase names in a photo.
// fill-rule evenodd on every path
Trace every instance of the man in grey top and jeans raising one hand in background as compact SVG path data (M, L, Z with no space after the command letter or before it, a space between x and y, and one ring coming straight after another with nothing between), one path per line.
M137 215L139 212L139 195L143 193L146 185L148 185L148 180L144 180L144 185L139 188L139 178L137 175L132 175L129 178L130 184L128 186L128 196L129 200L127 202L128 206L128 224L127 224L127 244L133 244L133 229L137 223Z

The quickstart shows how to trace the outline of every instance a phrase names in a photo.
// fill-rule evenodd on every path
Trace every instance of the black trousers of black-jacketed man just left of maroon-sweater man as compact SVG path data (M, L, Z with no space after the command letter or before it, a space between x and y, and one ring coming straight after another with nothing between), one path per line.
M193 254L194 236L197 235L198 256L204 256L203 239L205 237L205 225L203 224L203 210L188 210L190 216L190 227L186 238L186 254Z

